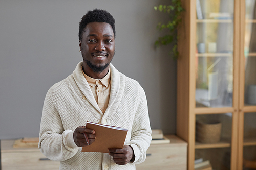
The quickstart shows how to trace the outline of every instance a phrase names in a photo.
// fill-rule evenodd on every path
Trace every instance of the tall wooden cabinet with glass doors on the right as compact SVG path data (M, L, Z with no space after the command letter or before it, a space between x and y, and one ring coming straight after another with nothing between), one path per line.
M177 135L188 142L188 169L197 158L209 160L213 169L249 168L248 162L256 164L256 2L182 4ZM198 141L207 135L196 122L220 122L220 140Z

